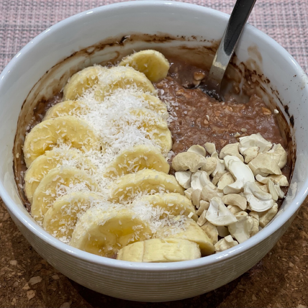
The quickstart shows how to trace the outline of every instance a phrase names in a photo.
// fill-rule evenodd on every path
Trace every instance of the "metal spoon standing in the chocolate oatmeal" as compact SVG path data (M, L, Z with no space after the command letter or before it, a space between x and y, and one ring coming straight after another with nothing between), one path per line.
M255 2L256 0L237 0L214 56L207 84L198 86L219 101L225 101L220 90L221 81Z

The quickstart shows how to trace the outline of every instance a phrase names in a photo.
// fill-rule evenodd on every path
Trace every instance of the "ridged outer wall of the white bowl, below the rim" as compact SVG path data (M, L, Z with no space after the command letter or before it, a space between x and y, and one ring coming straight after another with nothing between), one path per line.
M172 301L197 296L236 279L249 270L276 244L290 220L264 241L251 249L209 265L177 270L146 270L119 268L79 259L74 254L52 247L35 236L11 214L20 232L49 264L68 278L87 288L109 296L147 302ZM186 263L186 262L185 262ZM168 266L167 266L168 267Z

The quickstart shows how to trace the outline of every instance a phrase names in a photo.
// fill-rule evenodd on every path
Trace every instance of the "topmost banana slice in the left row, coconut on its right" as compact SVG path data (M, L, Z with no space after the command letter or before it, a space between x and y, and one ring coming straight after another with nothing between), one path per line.
M99 65L90 66L71 76L63 89L63 99L77 99L85 90L93 87L98 82L99 75L105 73L106 70L107 68Z

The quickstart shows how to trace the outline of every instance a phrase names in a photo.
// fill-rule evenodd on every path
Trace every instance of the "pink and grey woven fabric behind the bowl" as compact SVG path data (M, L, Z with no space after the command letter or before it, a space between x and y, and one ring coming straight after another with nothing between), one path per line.
M1 0L0 71L32 38L71 15L124 0ZM231 13L235 0L185 0ZM258 0L249 23L285 47L308 73L308 1Z

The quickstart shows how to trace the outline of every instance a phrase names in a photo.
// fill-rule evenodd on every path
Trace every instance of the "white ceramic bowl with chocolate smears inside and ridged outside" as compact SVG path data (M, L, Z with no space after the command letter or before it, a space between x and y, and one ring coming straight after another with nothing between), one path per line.
M222 286L249 270L270 251L294 219L308 188L308 79L285 49L250 25L243 32L234 61L237 64L244 61L257 73L264 74L262 80L270 80L270 84L260 82L273 96L274 104L289 124L285 110L293 116L291 133L292 142L296 143L296 163L288 195L277 216L265 229L232 249L197 260L131 263L86 253L55 239L34 222L18 195L12 149L18 116L31 89L21 117L29 116L36 97L51 96L53 87L62 87L64 79L72 73L69 67L81 68L107 60L123 47L121 44L93 47L72 57L73 60L68 59L61 65L57 63L99 41L107 38L114 41L115 37L133 33L167 33L170 37L178 36L178 39L132 42L124 47L124 53L131 48L164 46L170 49L183 44L210 46L221 37L228 17L215 10L180 2L137 1L103 6L47 29L28 43L3 70L0 76L1 197L18 229L34 249L75 282L103 294L130 300L167 301L192 297ZM54 68L46 77L44 74L51 67ZM43 75L45 77L41 79Z

